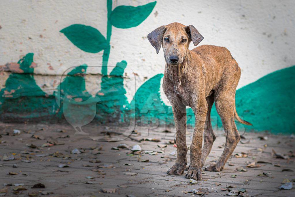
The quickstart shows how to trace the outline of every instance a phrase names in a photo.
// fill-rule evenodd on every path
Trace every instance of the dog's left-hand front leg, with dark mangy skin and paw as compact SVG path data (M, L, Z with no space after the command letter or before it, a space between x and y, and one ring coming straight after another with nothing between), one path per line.
M177 159L176 163L167 170L168 175L182 175L186 169L187 147L186 147L186 107L184 105L173 105L173 115L176 127Z

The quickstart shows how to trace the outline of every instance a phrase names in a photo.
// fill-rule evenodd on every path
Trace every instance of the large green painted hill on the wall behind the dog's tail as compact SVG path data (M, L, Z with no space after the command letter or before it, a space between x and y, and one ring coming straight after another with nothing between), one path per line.
M295 66L275 71L248 84L236 92L236 108L239 116L253 126L243 125L246 131L271 131L295 133ZM215 107L212 117L217 116ZM216 125L212 122L212 125ZM217 125L221 126L218 117ZM242 125L239 124L239 129Z

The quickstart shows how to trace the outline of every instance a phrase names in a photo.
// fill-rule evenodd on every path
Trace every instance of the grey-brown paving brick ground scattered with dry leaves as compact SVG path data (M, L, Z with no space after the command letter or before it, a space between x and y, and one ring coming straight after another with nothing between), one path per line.
M19 129L20 134L13 135L13 129ZM65 132L58 132L60 130ZM206 196L226 196L229 191L222 191L221 188L232 186L235 189L246 189L249 196L295 196L294 187L291 190L278 189L283 179L291 181L295 178L295 140L290 135L245 133L243 134L245 139L241 140L243 143L238 144L221 172L204 171L203 180L198 181L197 184L190 184L185 174L181 176L166 174L166 170L176 160L176 154L170 154L176 151L176 147L173 144L168 144L164 148L158 147L173 140L175 131L171 129L171 133L166 133L163 132L164 128L157 128L157 131L149 131L147 135L147 130L147 127L136 128L137 133L132 133L131 137L137 140L150 138L160 139L160 141L138 142L130 138L115 142L94 141L89 136L74 135L74 129L69 125L0 123L0 159L6 160L5 155L8 157L14 155L14 160L0 161L0 189L7 188L6 196L29 196L34 192L38 196L43 196L41 191L51 192L48 196L198 196L188 192L192 189L206 188L209 189L209 194ZM109 140L110 136L116 135L105 132L122 132L124 128L88 125L84 131L90 133L90 136L103 136L104 139ZM191 132L191 130L187 132L187 146L191 144ZM206 164L218 159L224 148L223 132L216 133L217 139ZM35 139L32 135L37 135L36 137L39 136L41 139ZM261 140L259 136L266 136L267 139ZM47 141L56 145L42 147ZM31 144L37 148L28 147ZM130 149L138 144L142 148L142 153L128 155L127 153L130 152L128 149L112 149L119 144L127 144ZM101 146L101 150L91 149L91 147ZM75 148L81 153L71 154ZM272 149L277 153L289 155L290 158L276 158ZM158 154L145 154L144 151L157 151ZM93 154L97 152L100 154ZM242 152L247 157L235 157L235 154ZM89 162L96 159L100 162ZM148 162L139 162L138 159L148 159ZM188 152L188 162L189 160ZM269 163L258 163L261 166L256 168L246 167L249 163L258 161ZM17 168L13 167L14 164ZM70 167L60 168L58 167L60 164L67 164ZM113 165L113 167L97 167L100 165L108 167ZM236 170L237 167L243 167L248 171L239 172ZM91 171L95 169L100 171ZM9 172L18 174L9 175ZM126 172L136 172L137 175L125 175ZM268 174L258 176L263 173ZM232 178L232 175L236 177ZM87 179L88 176L93 179ZM86 184L87 181L97 184ZM24 184L23 187L27 190L14 191L13 189L16 188L14 184L19 183ZM44 184L46 188L32 188L37 183ZM10 184L12 185L9 186ZM103 193L102 190L105 188L113 188L116 191ZM3 190L0 191L3 192Z

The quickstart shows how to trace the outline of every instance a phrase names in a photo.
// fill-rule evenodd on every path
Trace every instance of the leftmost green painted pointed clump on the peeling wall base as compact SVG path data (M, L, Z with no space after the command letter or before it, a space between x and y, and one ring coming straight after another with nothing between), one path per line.
M53 96L42 91L34 79L33 53L28 53L17 64L18 73L12 73L0 91L0 120L42 120L51 114Z

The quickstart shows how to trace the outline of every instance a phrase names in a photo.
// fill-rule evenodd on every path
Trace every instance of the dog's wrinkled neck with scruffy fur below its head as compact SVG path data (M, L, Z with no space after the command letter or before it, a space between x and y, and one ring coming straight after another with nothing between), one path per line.
M184 57L181 64L169 65L166 64L165 73L169 76L173 83L182 83L183 80L188 80L186 77L189 73L189 60L191 59L191 51L187 50L186 56Z

